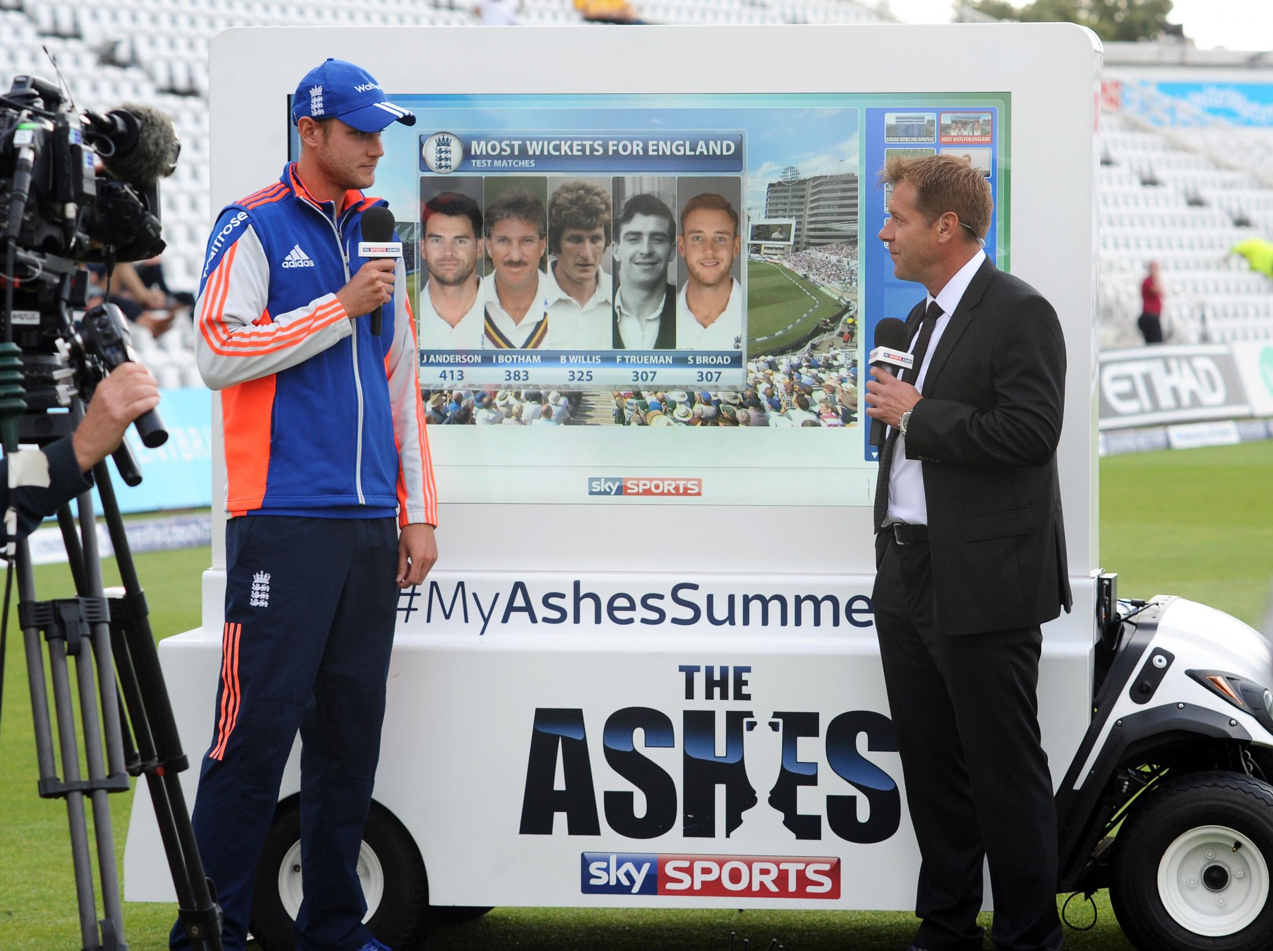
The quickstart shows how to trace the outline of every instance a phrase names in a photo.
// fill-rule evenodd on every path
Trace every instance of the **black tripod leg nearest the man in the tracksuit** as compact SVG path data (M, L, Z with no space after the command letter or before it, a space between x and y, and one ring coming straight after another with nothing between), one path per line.
M181 749L177 722L172 715L163 668L159 666L159 653L155 651L154 634L146 615L145 595L132 563L129 536L115 498L111 472L104 462L93 468L93 477L102 499L102 514L106 517L111 545L115 547L120 579L127 592L129 624L125 629L125 643L129 671L139 694L139 701L135 701L134 685L125 686L129 714L134 724L132 732L143 760L157 760L163 766L162 770L148 769L146 783L177 891L181 918L195 948L222 951L220 910L213 900L204 873L195 830L190 824L190 810L181 788L179 774L188 764Z

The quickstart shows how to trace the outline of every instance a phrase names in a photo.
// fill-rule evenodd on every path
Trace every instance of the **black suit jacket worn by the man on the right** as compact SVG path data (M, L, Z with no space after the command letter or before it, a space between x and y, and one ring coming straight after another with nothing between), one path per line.
M906 318L910 339L923 316L922 300ZM987 260L920 393L904 442L906 458L923 462L938 629L1027 628L1068 611L1057 477L1066 341L1051 304Z

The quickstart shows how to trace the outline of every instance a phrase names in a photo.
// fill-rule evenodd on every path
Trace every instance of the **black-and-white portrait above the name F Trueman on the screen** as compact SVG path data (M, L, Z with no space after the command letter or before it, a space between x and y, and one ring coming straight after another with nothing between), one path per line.
M676 348L676 285L667 270L676 253L676 218L654 195L624 202L615 229L615 350Z

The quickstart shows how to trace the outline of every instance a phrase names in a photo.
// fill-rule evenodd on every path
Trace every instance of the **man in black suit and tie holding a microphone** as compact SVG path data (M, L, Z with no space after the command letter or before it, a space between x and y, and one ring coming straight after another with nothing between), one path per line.
M880 230L928 289L914 367L872 369L876 631L919 840L913 948L1057 951L1057 817L1039 738L1039 625L1069 610L1057 481L1066 342L1051 306L981 251L990 187L953 157L892 159Z

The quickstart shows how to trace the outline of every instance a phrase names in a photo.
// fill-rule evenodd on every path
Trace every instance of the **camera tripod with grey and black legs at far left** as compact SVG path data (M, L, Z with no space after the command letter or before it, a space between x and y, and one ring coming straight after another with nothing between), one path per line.
M24 418L23 424L31 420L37 425L20 425L20 439L41 444L51 442L52 438L71 432L81 415L80 402L76 398L70 414ZM39 432L25 432L37 428ZM66 801L84 951L127 948L107 796L126 791L129 775L146 778L177 889L178 914L187 934L196 948L220 951L220 913L214 903L210 882L204 877L202 862L181 789L179 774L187 769L188 763L181 750L168 691L159 668L145 593L132 563L123 519L120 516L106 462L94 466L93 477L102 499L111 544L115 547L123 595L103 596L92 491L85 491L76 499L79 532L70 505L62 505L57 511L76 597L38 601L27 541L17 542L18 617L27 648L39 794L43 798ZM48 647L52 710L57 723L56 749L41 638ZM71 703L73 685L67 658L75 661L79 724ZM78 726L83 728L87 775L80 765ZM61 778L56 763L59 752ZM103 912L101 920L97 919L93 892L85 800L93 811L97 840Z

